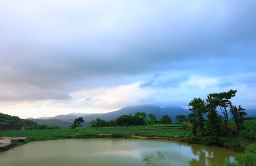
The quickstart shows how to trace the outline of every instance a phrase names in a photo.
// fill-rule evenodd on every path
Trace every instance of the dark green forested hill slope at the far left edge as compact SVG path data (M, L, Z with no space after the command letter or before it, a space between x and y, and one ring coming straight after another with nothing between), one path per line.
M32 120L20 119L17 116L11 116L7 114L0 113L0 124L1 125L24 125L26 130L28 129L58 129L58 126L48 126L48 125L38 125L37 122Z

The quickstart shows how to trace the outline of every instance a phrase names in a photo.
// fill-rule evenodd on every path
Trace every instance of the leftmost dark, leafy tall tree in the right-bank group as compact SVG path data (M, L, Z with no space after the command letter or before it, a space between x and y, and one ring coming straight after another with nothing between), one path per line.
M201 98L194 98L194 100L190 101L188 106L191 106L192 108L189 108L190 111L193 112L190 116L193 117L193 122L196 123L199 128L200 132L202 133L202 136L204 136L204 114L207 113L206 111L206 103ZM196 126L196 125L194 125Z

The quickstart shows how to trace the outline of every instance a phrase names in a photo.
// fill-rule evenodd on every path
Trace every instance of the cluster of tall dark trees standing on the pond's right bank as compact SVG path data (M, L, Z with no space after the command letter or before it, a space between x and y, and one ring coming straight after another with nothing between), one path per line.
M228 112L236 123L237 131L243 127L244 116L247 113L244 112L245 109L241 108L241 106L237 108L230 101L236 92L237 90L230 90L219 94L209 94L206 100L194 98L194 100L190 101L188 106L192 107L189 108L192 113L188 115L188 119L192 123L194 136L200 133L201 136L210 136L213 143L219 142L220 136L227 129L225 126L228 124ZM223 116L218 114L217 107L222 111Z

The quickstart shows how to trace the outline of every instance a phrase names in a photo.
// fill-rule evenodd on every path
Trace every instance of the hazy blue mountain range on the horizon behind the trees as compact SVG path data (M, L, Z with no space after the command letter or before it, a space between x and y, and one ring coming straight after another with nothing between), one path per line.
M182 107L157 107L157 106L127 106L118 111L113 111L110 113L69 113L67 115L57 115L55 117L41 117L37 119L30 120L37 122L39 125L58 125L63 129L68 129L69 126L74 122L74 120L78 117L82 117L85 123L82 124L83 127L89 126L89 122L95 120L97 118L110 121L112 119L117 119L121 115L129 115L132 116L137 112L144 112L147 115L152 113L156 116L156 119L162 118L163 115L169 115L171 119L176 122L175 118L176 115L188 115L191 113L188 109ZM221 112L218 111L220 114ZM256 109L246 110L248 114L247 117L255 117L256 116ZM231 118L231 116L229 116Z

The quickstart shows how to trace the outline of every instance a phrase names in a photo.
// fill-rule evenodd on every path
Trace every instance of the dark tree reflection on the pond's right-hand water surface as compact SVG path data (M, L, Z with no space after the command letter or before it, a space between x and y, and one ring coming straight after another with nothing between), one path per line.
M229 162L232 156L222 148L207 147L205 149L202 146L192 145L191 150L194 158L189 161L190 166L223 166L225 161Z

